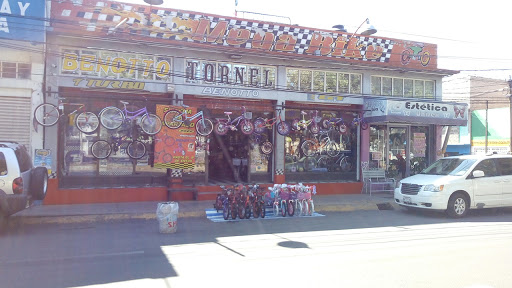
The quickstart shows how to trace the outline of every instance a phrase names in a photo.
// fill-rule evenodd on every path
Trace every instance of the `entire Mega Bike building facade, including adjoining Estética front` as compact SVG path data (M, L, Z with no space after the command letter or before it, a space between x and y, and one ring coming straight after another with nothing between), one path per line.
M464 104L440 101L456 72L437 68L433 44L109 1L53 3L51 17L45 100L81 104L100 123L105 107L126 108L131 121L46 127L58 171L47 203L162 200L172 173L200 195L238 182L360 193L362 169L414 174L439 156L442 126L467 121ZM141 131L139 108L163 120L158 133ZM170 110L202 112L214 132L197 134L195 120L173 127ZM228 117L267 125L219 130ZM329 129L331 118L346 128ZM278 133L280 121L303 125ZM109 157L93 155L98 140ZM146 150L138 159L134 140Z

